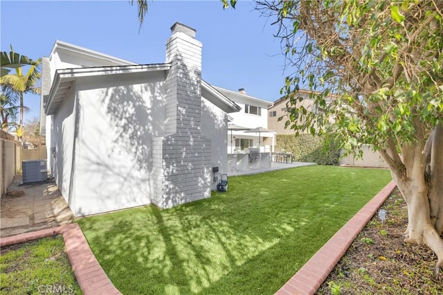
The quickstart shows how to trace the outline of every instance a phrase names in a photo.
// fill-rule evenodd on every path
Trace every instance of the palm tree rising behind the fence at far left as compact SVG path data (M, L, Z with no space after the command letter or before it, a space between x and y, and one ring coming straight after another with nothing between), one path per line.
M15 94L18 97L20 115L17 135L21 138L21 134L23 133L24 111L26 109L24 106L24 94L40 93L40 88L37 87L37 82L40 78L39 65L42 62L42 59L29 60L28 57L15 53L11 46L9 54L6 53L6 51L1 53L1 62L2 75L0 77L0 86L2 91L2 105L3 98L5 102L12 105L12 94ZM23 71L24 66L28 67L26 73ZM10 73L9 69L15 69L15 73Z

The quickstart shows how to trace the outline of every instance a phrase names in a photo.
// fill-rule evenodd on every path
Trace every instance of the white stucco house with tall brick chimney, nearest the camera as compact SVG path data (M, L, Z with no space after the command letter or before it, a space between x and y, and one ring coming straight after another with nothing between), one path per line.
M48 169L76 216L210 197L226 173L228 114L240 107L201 80L196 31L171 30L163 64L60 41L44 57Z

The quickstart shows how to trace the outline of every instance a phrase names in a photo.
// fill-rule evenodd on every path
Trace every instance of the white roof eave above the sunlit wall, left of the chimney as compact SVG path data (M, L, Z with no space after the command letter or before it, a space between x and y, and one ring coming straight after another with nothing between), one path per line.
M57 106L69 92L69 83L77 78L96 77L98 75L125 75L129 73L146 73L152 71L169 71L171 64L138 64L134 66L101 66L92 68L62 69L55 71L54 82L49 91L48 102L44 112L46 115L55 114ZM62 85L62 87L60 86ZM67 89L67 90L66 90Z

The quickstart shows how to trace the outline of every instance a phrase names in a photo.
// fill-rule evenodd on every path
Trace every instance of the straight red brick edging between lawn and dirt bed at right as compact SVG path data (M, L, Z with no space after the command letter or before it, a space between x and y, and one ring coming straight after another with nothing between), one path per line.
M275 294L314 294L395 187L395 182L390 181Z

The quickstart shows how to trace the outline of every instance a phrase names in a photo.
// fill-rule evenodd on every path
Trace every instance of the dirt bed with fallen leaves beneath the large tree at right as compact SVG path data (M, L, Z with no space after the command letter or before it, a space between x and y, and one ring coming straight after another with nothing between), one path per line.
M372 217L317 294L443 294L443 274L434 272L437 256L404 242L408 217L399 191L381 208L387 220Z

